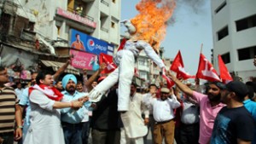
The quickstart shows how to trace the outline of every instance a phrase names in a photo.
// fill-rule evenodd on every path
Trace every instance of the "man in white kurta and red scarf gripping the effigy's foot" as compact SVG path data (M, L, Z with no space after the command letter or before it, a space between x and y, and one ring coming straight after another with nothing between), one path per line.
M64 135L61 127L61 113L58 109L65 107L80 108L84 101L61 102L63 95L53 87L50 72L39 72L37 84L29 88L31 106L30 126L24 143L63 144Z

